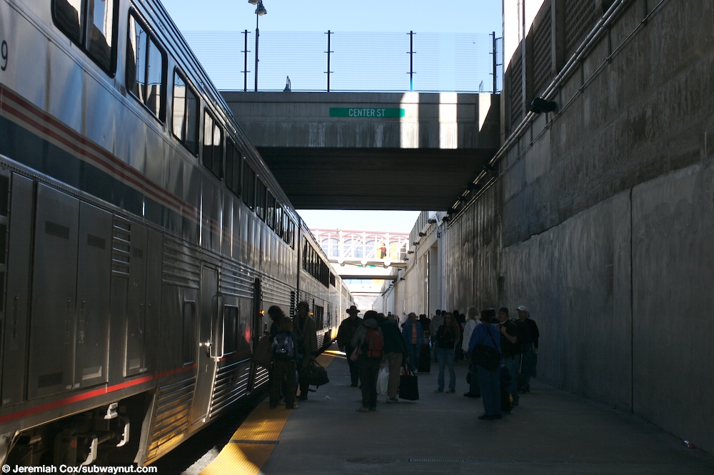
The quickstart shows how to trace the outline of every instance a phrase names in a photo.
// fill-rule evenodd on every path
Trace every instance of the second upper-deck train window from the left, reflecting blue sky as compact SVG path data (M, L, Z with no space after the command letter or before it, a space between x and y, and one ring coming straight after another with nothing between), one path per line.
M126 89L149 111L166 116L166 54L134 14L129 15L126 41Z

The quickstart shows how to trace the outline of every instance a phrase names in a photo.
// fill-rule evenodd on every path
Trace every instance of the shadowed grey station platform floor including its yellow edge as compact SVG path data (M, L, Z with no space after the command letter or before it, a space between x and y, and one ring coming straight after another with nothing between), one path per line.
M456 394L434 392L432 364L418 374L418 401L378 396L376 411L360 413L345 355L333 346L318 361L329 384L298 409L258 404L201 474L714 474L705 451L539 379L511 414L481 421L481 399L463 396L466 361Z

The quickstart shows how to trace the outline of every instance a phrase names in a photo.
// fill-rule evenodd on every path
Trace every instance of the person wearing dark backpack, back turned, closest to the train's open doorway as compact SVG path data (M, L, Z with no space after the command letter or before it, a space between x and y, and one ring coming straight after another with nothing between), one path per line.
M293 336L293 321L283 315L278 321L278 333L273 338L273 371L270 385L270 407L278 406L281 389L285 394L286 409L295 409L295 339ZM282 381L286 381L283 388Z

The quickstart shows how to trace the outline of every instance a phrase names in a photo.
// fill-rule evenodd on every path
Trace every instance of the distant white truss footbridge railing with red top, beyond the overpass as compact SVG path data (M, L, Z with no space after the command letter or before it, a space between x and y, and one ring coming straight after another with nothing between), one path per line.
M406 267L409 234L311 229L333 264Z

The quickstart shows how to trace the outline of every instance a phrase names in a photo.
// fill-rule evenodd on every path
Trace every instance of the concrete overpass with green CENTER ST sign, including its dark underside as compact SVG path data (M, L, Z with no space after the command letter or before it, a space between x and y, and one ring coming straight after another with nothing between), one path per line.
M296 209L446 211L500 146L497 94L223 96Z

